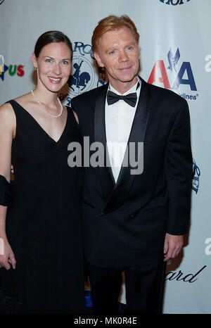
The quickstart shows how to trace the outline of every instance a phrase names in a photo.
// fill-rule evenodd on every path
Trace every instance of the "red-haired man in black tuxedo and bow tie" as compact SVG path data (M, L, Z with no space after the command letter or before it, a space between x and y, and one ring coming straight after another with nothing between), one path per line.
M165 263L179 254L188 232L188 105L137 75L139 34L127 15L101 20L92 47L109 83L72 99L72 108L83 136L103 144L110 163L87 165L82 196L94 313L117 313L123 271L126 312L160 313ZM123 165L132 143L135 149L143 143L140 174ZM122 152L115 152L117 144L124 145Z

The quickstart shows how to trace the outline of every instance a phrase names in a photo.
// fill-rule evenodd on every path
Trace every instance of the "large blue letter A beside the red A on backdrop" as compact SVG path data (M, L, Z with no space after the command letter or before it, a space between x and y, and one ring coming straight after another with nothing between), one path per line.
M187 72L188 79L182 78L184 76L185 71ZM191 87L191 90L197 91L196 83L195 83L194 77L193 77L193 72L191 70L191 63L188 63L187 61L184 61L184 63L182 63L172 89L178 89L179 84L189 84Z

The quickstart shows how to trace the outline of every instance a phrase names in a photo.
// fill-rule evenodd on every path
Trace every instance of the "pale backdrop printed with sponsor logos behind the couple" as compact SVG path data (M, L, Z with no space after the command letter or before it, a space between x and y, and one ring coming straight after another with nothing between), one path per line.
M34 88L31 54L40 34L60 30L73 46L63 103L106 83L91 35L101 18L129 15L140 34L140 75L188 101L193 186L185 246L167 263L163 313L211 313L210 0L0 0L0 103ZM77 80L75 79L77 76ZM124 284L120 301L125 303Z

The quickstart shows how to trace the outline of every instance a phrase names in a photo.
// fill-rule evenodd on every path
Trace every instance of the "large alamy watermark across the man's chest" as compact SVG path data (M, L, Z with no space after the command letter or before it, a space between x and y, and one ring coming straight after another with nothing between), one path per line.
M68 165L77 167L126 167L131 175L143 172L143 142L107 142L106 146L99 141L90 144L89 137L84 137L83 144L70 142ZM111 164L112 163L112 164Z

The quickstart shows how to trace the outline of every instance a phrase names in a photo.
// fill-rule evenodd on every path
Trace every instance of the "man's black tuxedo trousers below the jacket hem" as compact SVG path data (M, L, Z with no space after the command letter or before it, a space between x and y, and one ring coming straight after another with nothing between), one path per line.
M125 277L126 305L121 314L162 313L165 277L165 263L162 260L150 265L124 267L122 270L102 269L88 263L87 271L95 315L117 315L122 272Z

